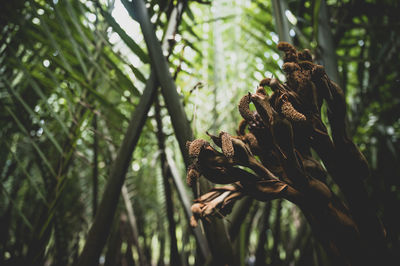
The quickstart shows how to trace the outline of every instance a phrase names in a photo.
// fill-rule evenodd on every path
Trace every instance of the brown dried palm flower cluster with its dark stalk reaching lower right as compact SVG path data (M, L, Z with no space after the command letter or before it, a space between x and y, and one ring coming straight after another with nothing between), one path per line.
M310 51L297 51L284 42L278 49L284 52L287 81L263 79L255 93L243 96L239 102L243 120L236 136L207 133L215 145L202 139L188 142L193 160L188 184L204 176L225 185L195 200L191 225L223 217L245 195L260 201L285 198L301 209L333 264L378 262L385 231L369 208L363 186L368 163L345 130L343 92L324 67L312 62ZM321 120L323 103L331 134ZM312 157L312 150L324 167ZM349 207L326 185L328 173Z

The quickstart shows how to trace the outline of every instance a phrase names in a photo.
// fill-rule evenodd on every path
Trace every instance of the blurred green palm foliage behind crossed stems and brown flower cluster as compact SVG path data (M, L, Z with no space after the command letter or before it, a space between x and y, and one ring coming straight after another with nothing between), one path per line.
M146 2L160 40L179 2ZM241 96L264 77L284 79L279 39L311 49L317 62L333 64L327 69L346 93L349 132L373 170L366 180L371 208L399 256L399 2L185 5L178 30L165 38L174 44L170 72L194 135L235 132ZM150 76L146 44L119 1L14 0L1 6L0 264L72 265L102 211L97 207L111 164ZM148 114L101 265L140 265L140 252L151 265L202 263L181 198L163 182L158 115L165 149L182 176L185 166L165 103L157 101L161 111ZM136 228L127 222L128 209ZM224 219L228 227L230 219ZM238 230L232 241L238 265L329 265L288 202L249 204ZM180 262L171 259L174 245Z

